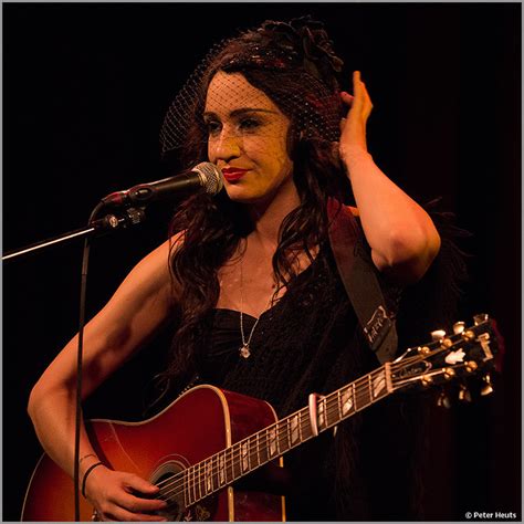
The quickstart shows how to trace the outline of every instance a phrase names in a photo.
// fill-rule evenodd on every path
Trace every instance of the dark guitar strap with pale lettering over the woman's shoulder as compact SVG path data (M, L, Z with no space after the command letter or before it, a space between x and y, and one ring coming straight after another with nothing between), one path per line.
M369 347L380 364L394 358L398 337L395 315L389 313L375 265L364 249L364 232L347 206L329 198L329 243L347 296Z

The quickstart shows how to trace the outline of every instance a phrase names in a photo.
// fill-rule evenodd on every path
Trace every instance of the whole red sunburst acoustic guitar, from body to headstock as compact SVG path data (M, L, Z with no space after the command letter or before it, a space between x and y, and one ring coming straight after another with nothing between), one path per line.
M280 494L237 488L240 479L262 467L282 467L282 455L318 433L399 390L429 388L482 371L482 395L491 392L490 370L497 352L497 332L488 315L474 325L453 326L453 334L433 332L433 340L411 347L391 363L321 396L311 394L303 409L277 419L265 401L197 386L157 416L143 422L91 420L86 428L101 461L158 485L171 521L285 521ZM46 454L29 484L22 521L73 521L72 479ZM82 521L96 520L81 499Z

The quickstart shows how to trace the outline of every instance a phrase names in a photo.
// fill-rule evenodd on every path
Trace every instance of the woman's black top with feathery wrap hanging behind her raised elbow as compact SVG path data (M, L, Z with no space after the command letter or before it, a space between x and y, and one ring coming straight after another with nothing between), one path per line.
M442 243L422 281L400 293L379 277L390 311L398 308L399 349L422 344L431 329L453 319L464 276L460 234L433 214ZM369 247L367 247L369 250ZM255 322L243 315L249 337ZM197 363L200 381L269 401L280 418L307 405L311 392L329 394L378 366L339 279L328 244L264 312L240 356L240 313L212 310L203 322ZM425 338L423 340L420 338ZM286 493L290 521L413 520L417 457L423 433L417 396L394 395L332 431L290 451Z

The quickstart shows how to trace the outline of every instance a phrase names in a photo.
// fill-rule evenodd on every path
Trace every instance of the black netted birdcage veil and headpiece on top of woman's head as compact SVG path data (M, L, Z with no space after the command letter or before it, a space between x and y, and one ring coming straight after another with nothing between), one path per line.
M240 107L253 102L244 99L242 75L289 118L294 139L336 142L343 116L336 77L342 65L322 22L308 17L289 23L266 21L227 39L209 51L169 106L160 130L161 154L205 155L206 105L217 107L222 102L210 101L208 94L219 71L230 81L224 104Z

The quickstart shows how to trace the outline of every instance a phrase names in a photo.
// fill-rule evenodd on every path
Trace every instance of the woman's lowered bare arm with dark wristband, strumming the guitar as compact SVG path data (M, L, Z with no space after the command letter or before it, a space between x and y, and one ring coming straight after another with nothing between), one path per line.
M86 324L83 348L83 398L120 367L168 318L174 291L168 268L169 242L143 259L127 275L107 305ZM29 415L46 453L71 476L74 471L74 427L77 336L62 349L31 391ZM98 458L82 425L80 482ZM78 486L80 488L80 486ZM130 473L94 469L86 495L98 514L109 520L158 520L145 512L164 507L160 501L139 499L157 489Z

